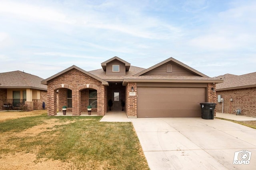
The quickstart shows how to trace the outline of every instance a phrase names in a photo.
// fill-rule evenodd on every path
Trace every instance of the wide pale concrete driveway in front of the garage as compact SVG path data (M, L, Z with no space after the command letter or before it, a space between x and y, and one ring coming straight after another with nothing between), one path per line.
M256 168L256 129L220 119L137 118L131 121L151 170ZM233 164L235 152L242 150L252 152L250 164ZM248 152L240 152L238 160L248 160L242 155L249 156Z

